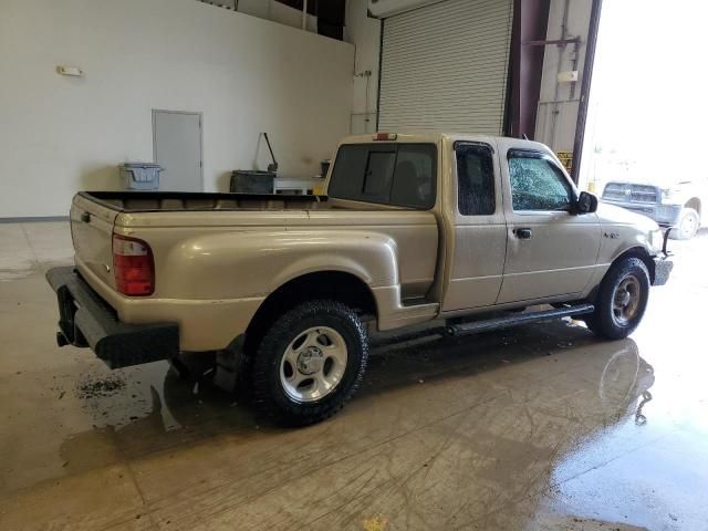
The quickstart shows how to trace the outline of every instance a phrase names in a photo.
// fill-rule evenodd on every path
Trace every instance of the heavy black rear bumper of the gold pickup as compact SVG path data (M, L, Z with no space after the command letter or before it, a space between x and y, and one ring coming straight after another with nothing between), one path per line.
M127 324L73 267L53 268L46 280L59 303L60 345L88 346L111 368L167 360L179 353L177 323Z

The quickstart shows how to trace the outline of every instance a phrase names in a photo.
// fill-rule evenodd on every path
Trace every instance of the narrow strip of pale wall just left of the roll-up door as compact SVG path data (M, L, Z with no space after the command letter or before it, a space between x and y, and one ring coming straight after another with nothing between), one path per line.
M352 134L376 131L378 98L378 55L381 24L366 15L367 0L347 0L344 40L356 48L354 71L354 102L352 105ZM371 72L366 75L365 72Z

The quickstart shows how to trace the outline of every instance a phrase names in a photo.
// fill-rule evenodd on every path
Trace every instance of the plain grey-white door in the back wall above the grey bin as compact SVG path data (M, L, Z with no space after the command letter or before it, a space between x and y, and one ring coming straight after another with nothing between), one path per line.
M201 114L153 111L155 162L164 191L204 191Z

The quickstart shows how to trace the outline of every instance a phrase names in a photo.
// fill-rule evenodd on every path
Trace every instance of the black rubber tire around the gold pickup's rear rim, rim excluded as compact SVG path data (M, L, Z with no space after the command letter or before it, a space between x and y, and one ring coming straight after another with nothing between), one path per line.
M339 382L329 394L301 402L289 394L287 382L281 378L283 364L289 363L283 357L300 336L313 327L326 327L340 334L345 343L346 361ZM367 360L366 331L351 308L331 300L305 302L282 314L260 342L251 369L253 404L259 413L278 424L306 426L319 423L339 412L356 393ZM317 384L313 382L312 385Z

